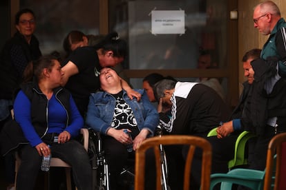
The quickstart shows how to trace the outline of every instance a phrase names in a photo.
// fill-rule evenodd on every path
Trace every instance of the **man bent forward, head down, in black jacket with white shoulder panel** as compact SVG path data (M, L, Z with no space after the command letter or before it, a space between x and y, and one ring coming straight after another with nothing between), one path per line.
M162 80L155 84L154 94L157 101L171 106L171 118L160 113L160 125L169 134L200 136L209 140L213 147L212 173L227 173L227 162L233 158L237 136L223 139L218 139L216 136L207 138L209 131L218 127L220 122L227 120L229 116L225 101L216 91L200 83ZM182 184L178 165L182 163L183 158L186 158L188 149L189 147L165 148L171 170L169 172L171 189L175 187L173 181L178 182L176 185ZM191 169L191 189L200 189L201 151L196 150Z

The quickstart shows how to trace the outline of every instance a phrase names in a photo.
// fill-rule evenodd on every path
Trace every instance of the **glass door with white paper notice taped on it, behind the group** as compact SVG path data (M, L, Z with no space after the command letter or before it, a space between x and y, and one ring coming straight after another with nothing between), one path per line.
M124 68L133 87L151 72L179 81L216 78L229 101L228 0L108 2L109 31L128 41Z

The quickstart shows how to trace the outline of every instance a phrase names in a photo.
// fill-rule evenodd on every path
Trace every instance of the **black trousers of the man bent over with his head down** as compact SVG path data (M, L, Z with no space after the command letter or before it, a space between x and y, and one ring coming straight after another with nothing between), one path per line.
M205 137L212 145L211 173L227 173L228 162L233 158L234 147L238 135L217 138ZM171 189L182 189L184 160L187 158L189 146L164 147L169 161L169 182ZM191 166L190 189L200 189L200 176L202 168L202 150L196 149Z

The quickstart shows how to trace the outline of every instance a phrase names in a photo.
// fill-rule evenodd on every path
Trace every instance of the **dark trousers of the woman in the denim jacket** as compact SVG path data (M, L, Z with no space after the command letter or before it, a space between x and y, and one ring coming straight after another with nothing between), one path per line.
M121 142L115 140L115 138L109 136L102 136L103 149L105 158L109 165L109 171L111 173L111 189L120 189L122 184L120 178L120 172L123 167L126 166L128 159L135 159L134 151L128 153L126 146ZM146 169L145 169L145 189L155 189L155 156L153 150L146 151Z

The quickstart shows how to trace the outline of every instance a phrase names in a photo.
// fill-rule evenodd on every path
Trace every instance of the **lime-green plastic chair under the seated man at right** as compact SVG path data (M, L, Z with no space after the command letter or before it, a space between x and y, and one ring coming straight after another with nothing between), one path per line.
M216 129L218 129L218 127L211 129L207 136L216 136ZM233 159L229 160L228 163L229 169L239 165L247 165L247 158L245 158L245 145L247 140L249 140L249 138L253 138L254 136L255 135L251 134L249 131L242 131L242 133L238 136L236 139Z

